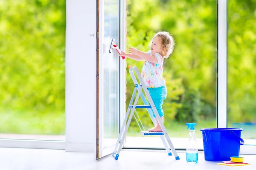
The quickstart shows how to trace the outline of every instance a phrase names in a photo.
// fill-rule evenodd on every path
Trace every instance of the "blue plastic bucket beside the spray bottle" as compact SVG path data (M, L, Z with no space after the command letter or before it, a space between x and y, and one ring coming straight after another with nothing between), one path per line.
M241 128L201 129L204 142L204 159L206 161L230 161L230 157L239 156Z

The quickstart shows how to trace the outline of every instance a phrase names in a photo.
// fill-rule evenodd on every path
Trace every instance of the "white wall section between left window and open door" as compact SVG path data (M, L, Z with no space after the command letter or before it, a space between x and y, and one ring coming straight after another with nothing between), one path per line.
M66 151L96 146L96 0L66 0Z

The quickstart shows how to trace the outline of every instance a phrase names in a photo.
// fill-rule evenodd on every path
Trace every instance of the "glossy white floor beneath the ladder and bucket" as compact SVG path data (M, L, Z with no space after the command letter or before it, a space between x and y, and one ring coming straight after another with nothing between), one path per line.
M255 170L256 155L243 155L251 165L227 167L204 161L200 153L198 164L187 164L186 154L180 160L165 152L121 151L118 161L107 156L98 161L94 153L72 153L65 150L0 148L1 170Z

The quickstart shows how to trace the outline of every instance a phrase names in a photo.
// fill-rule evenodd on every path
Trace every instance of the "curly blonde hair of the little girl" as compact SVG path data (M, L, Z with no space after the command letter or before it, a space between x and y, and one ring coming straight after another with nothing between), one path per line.
M168 58L169 55L172 54L172 51L175 47L175 41L174 38L172 37L172 35L169 34L169 32L166 31L159 31L157 32L157 34L154 35L154 37L160 37L161 38L161 44L162 44L162 56L164 58ZM153 38L154 38L153 37ZM153 40L152 38L152 40ZM151 42L152 42L151 40Z

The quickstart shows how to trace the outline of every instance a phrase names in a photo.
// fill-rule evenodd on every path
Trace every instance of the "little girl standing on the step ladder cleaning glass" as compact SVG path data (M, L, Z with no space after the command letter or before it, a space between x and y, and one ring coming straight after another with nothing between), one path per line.
M136 48L129 48L129 53L122 51L120 56L125 56L136 61L145 61L141 76L163 122L164 114L162 105L163 100L167 96L166 83L163 79L163 59L168 58L172 54L175 42L173 37L165 31L155 34L151 42L151 50L146 53ZM156 119L154 112L153 116ZM148 131L162 132L157 119L156 123L157 125Z

